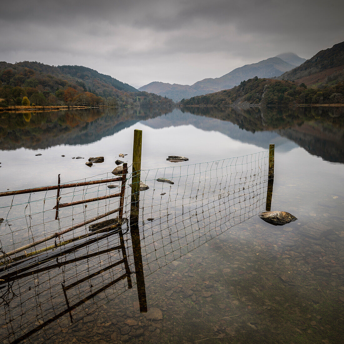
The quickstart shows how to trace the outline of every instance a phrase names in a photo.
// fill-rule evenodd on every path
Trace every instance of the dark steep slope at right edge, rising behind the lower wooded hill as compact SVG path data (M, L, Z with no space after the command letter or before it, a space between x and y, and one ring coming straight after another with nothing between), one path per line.
M295 80L308 86L321 83L335 84L344 74L344 42L319 51L300 66L283 73L278 79Z

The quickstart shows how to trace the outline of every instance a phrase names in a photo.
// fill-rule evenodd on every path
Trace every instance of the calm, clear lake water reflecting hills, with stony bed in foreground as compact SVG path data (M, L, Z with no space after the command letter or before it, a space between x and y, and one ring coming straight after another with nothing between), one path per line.
M341 341L343 108L90 109L0 117L0 192L55 185L58 174L61 183L111 178L117 159L130 172L134 129L142 130L141 180L150 186L140 193L139 238L124 225L123 233L67 245L63 255L54 248L20 263L2 258L4 343ZM271 210L298 218L284 226L256 215L265 210L270 143ZM169 155L189 161L171 163ZM85 165L97 156L104 162ZM63 200L118 191L101 185L66 192ZM60 209L56 222L50 210L56 191L42 194L0 197L2 252L115 204ZM135 268L138 242L143 264ZM131 275L123 275L127 269ZM142 307L144 291L148 313L138 302Z

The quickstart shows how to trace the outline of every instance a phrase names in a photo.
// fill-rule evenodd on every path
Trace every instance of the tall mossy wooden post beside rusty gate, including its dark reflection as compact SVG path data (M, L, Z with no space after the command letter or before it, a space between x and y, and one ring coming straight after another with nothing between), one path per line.
M130 236L134 257L137 293L140 311L147 312L146 287L144 284L141 240L139 230L139 201L140 201L140 178L141 178L141 150L142 130L134 130L134 143L132 150L132 181L130 200Z

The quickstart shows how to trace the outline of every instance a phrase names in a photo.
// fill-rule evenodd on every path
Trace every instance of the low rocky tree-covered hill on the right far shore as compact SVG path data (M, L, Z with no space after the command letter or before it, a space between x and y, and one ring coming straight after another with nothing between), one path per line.
M298 85L289 80L255 77L239 86L204 96L182 99L181 105L231 106L231 105L297 105L343 104L344 82L323 88Z

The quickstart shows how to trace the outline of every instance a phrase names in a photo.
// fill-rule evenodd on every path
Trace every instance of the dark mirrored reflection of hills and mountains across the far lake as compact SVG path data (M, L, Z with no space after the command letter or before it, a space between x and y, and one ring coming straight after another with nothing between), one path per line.
M87 109L36 113L3 112L1 150L88 144L142 122L152 128L193 125L268 148L286 139L330 162L344 163L342 107Z

